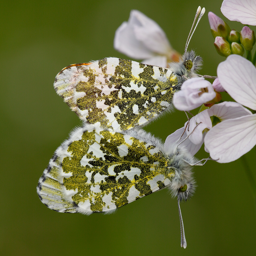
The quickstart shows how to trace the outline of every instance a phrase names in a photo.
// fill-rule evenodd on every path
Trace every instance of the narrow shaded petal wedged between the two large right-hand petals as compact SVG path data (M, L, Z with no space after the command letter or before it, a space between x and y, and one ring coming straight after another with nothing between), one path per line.
M224 121L226 119L252 115L252 112L237 102L224 101L209 108L208 114L209 116L218 117L220 121Z

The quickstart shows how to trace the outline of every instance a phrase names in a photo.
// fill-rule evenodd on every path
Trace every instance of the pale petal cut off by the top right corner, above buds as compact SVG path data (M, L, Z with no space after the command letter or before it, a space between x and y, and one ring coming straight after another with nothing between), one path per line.
M229 20L236 20L252 26L256 25L255 0L224 0L220 10Z

